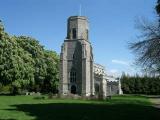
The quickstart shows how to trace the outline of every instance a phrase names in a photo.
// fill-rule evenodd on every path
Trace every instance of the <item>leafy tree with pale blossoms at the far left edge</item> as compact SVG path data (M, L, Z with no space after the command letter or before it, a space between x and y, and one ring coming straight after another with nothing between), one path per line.
M16 37L3 34L0 40L0 83L26 88L34 82L34 61Z

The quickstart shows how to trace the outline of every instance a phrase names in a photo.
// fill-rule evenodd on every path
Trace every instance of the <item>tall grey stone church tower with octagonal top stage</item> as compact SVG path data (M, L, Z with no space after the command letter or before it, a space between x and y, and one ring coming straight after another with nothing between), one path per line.
M67 37L60 54L60 94L94 95L93 53L88 20L68 18Z

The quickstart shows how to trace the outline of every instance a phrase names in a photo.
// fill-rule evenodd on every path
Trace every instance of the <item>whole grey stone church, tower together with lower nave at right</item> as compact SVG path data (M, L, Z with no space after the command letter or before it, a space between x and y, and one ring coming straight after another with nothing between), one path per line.
M59 93L103 98L118 94L121 90L119 81L112 82L113 77L107 76L105 67L94 63L88 36L89 24L85 16L68 18L67 37L60 54Z

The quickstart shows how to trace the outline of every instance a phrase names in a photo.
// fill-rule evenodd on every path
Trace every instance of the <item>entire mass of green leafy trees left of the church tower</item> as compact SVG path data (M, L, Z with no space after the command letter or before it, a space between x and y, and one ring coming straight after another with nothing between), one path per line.
M27 91L56 92L59 55L38 40L10 36L0 23L0 84Z

